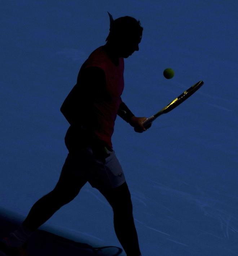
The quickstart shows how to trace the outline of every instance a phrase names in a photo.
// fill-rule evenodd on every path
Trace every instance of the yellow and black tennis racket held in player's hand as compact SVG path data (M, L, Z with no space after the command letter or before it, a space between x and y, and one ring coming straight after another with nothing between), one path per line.
M142 122L142 125L145 127L152 123L158 116L168 113L169 111L173 110L176 108L179 104L185 101L185 99L188 99L192 94L195 93L202 85L204 84L203 81L197 82L197 84L191 86L189 89L184 91L181 95L179 95L176 99L174 99L172 102L170 102L166 107L164 107L162 110L160 110L158 113L156 113L153 116L150 116L147 118L145 121Z

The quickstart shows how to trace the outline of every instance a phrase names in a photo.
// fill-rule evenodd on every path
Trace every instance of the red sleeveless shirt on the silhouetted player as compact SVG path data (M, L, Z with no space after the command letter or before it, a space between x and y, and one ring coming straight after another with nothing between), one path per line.
M105 73L106 91L110 95L107 100L93 103L93 109L97 115L98 125L93 133L97 138L105 142L109 148L113 148L111 137L114 132L114 124L118 109L122 103L121 95L124 89L124 59L119 58L119 65L116 66L100 46L94 50L82 65L80 72L89 67L101 68ZM77 83L80 84L80 72ZM97 86L97 84L93 85ZM87 128L87 124L83 125Z

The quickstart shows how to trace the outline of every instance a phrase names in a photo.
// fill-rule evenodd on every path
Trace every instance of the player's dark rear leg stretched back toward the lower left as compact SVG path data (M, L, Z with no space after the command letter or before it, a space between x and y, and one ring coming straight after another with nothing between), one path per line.
M68 154L56 187L32 206L22 225L4 241L8 246L22 246L32 232L45 223L59 208L78 195L80 189L87 182L83 176L86 167L80 162L80 159L79 155ZM84 157L84 159L87 158ZM82 169L81 175L79 175L80 169Z

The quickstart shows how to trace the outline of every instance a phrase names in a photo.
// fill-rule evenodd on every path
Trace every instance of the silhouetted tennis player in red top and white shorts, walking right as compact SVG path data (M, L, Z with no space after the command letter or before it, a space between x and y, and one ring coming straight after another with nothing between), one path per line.
M127 256L140 256L132 214L131 195L116 158L111 136L116 115L136 132L146 128L122 102L124 58L138 51L143 28L140 21L125 16L113 20L107 43L94 50L80 68L77 83L61 106L70 124L65 136L69 154L56 187L39 199L18 230L4 238L6 249L20 255L32 232L63 205L72 201L85 183L97 188L112 206L114 228ZM149 128L151 124L147 127Z

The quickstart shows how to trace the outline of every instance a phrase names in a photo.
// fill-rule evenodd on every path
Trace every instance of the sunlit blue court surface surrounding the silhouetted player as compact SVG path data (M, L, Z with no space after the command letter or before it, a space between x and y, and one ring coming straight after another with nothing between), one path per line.
M116 119L142 255L238 255L236 0L1 1L0 207L23 220L56 185L68 153L59 108L106 43L107 11L144 27L140 50L124 59L122 99L137 117L204 81L146 132ZM42 228L120 246L112 209L89 183Z

